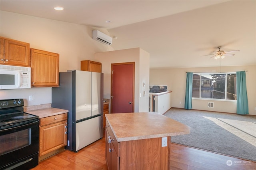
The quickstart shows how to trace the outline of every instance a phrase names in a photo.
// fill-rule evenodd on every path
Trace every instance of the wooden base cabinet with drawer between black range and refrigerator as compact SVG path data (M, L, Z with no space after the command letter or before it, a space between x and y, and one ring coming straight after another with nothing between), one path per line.
M67 120L67 113L40 118L39 156L67 145Z

